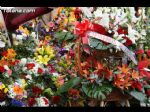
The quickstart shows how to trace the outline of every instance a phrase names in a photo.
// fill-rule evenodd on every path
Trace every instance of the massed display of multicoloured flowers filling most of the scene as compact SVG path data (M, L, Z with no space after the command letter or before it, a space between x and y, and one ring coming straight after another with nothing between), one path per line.
M0 105L99 106L116 101L115 90L148 105L148 10L58 7L48 23L38 17L11 32L12 46L1 31Z

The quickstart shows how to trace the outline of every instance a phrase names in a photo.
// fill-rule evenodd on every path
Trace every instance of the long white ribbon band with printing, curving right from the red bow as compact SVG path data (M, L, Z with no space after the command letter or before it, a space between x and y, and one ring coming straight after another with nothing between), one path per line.
M92 37L95 37L96 39L118 46L137 65L135 54L132 51L130 51L126 46L124 46L122 43L118 42L117 40L111 37L108 37L108 36L105 36L96 32L88 31L87 34L88 36L92 36Z

